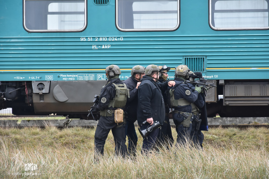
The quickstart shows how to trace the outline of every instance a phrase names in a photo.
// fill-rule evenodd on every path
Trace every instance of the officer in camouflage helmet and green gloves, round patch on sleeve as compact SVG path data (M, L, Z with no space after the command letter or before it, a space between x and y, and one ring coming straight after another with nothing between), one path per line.
M192 105L199 93L201 87L195 87L194 92L186 84L186 79L189 78L189 68L187 65L179 65L175 69L175 86L168 87L169 104L174 108L173 120L176 125L178 144L186 144L186 140L190 142L190 132L192 131Z

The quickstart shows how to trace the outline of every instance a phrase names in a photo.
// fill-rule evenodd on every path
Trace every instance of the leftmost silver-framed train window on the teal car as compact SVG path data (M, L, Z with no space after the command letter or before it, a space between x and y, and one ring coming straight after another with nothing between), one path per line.
M24 0L29 32L76 32L86 28L86 0Z

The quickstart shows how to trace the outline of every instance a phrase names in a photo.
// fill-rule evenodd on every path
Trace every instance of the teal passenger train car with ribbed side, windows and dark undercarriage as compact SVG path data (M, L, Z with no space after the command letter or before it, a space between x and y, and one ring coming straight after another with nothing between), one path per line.
M269 116L269 0L2 0L0 109L86 119L134 65L186 64L217 88L208 116Z

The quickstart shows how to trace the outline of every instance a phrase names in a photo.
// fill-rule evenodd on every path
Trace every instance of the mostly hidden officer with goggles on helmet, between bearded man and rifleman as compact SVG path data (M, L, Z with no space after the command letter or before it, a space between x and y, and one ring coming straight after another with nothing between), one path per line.
M170 67L164 65L164 66L158 66L160 71L159 71L159 80L157 81L157 84L160 86L162 83L165 81L169 80L167 72L170 70ZM169 121L169 106L167 103L167 90L165 90L162 93L162 96L164 98L164 105L165 105L165 120L164 124L161 127L161 137L160 137L160 143L169 149L169 147L172 147L174 144L174 138L172 136L172 130L171 130L171 125Z

